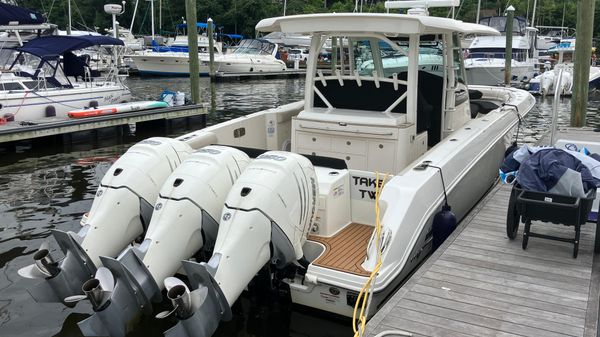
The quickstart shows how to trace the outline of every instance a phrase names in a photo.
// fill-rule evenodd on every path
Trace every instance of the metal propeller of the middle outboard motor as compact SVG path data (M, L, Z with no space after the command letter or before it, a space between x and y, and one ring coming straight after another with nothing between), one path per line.
M65 303L75 303L85 299L90 300L94 310L100 310L110 300L115 288L115 278L106 267L100 267L94 278L85 281L81 290L83 294L73 295L64 299Z

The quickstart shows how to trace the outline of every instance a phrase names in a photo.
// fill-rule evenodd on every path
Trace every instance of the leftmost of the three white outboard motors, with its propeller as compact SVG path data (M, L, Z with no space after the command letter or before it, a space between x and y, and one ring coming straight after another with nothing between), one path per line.
M191 152L186 143L162 137L129 148L102 178L79 233L52 230L64 258L54 259L44 242L35 263L19 270L22 277L43 280L29 290L32 297L74 306L64 299L80 293L96 273L100 255L117 256L144 232L160 186Z

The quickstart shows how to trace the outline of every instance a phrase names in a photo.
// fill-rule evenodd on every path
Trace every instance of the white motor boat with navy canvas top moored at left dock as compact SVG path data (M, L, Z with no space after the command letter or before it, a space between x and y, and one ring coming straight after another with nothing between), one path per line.
M103 76L73 51L99 45L121 46L106 36L44 36L17 48L8 71L0 74L0 117L35 121L67 118L89 106L126 102L129 88L113 69Z

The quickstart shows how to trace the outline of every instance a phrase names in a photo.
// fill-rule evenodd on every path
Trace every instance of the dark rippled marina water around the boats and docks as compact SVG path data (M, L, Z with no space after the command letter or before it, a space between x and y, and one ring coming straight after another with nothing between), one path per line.
M139 99L155 99L165 90L189 91L188 80L129 80ZM205 79L203 88L208 87ZM302 79L219 83L202 91L210 102L208 123L296 101L304 90ZM600 98L591 98L588 124L600 127ZM539 100L526 119L523 139L534 142L551 123L552 100ZM560 103L560 124L568 123L570 102ZM179 133L183 133L180 130ZM80 336L77 322L88 317L90 306L74 309L37 304L27 293L35 282L23 280L17 270L30 264L32 255L50 235L50 229L79 229L95 190L116 157L142 138L130 136L123 144L93 149L76 146L63 151L49 146L44 151L19 148L19 153L0 155L0 336ZM52 241L51 241L52 242ZM323 313L299 309L279 299L270 289L252 289L233 308L234 319L224 323L218 336L350 336L349 321L323 317ZM170 325L143 322L135 336L162 336Z

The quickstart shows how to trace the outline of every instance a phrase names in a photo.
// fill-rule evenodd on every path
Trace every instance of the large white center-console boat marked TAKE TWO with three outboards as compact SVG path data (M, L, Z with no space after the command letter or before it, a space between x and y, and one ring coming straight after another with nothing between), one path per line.
M166 336L210 336L261 270L300 305L352 317L368 301L366 321L496 182L535 103L523 90L462 83L460 35L498 34L487 26L334 13L265 19L257 30L312 36L305 100L135 145L103 178L84 229L54 231L67 257L42 247L19 271L42 281L31 291L38 300L89 299L85 335L124 336L164 286L174 310L158 317L179 320ZM327 39L349 54L325 75L317 62ZM441 74L419 67L432 41ZM383 47L408 54L405 71L386 76ZM365 55L374 71L360 74ZM119 254L148 221L142 244ZM175 257L195 249L211 257L182 262L189 283L169 276ZM86 273L94 277L78 295Z

